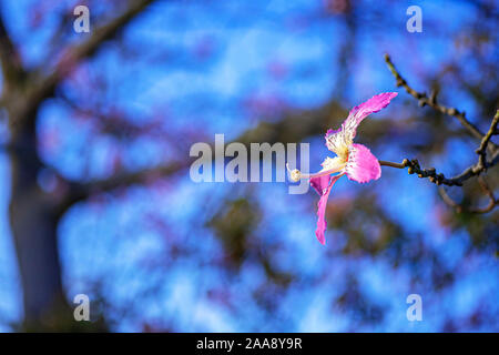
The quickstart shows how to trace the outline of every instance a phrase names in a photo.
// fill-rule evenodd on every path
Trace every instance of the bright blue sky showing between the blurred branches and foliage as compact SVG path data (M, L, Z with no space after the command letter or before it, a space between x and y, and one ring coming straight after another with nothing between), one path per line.
M366 9L373 8L373 3L366 1ZM422 33L405 31L405 10L415 3L424 11ZM9 14L10 32L22 43L26 62L39 64L44 60L53 19L49 16L43 27L30 31L27 13L34 2L7 1L2 6ZM184 140L183 132L193 125L207 139L224 133L228 141L262 119L242 104L248 97L271 103L277 98L295 108L314 108L325 103L332 92L342 87L342 72L335 59L342 54L342 34L346 29L334 19L318 20L322 1L294 1L293 4L255 1L237 6L214 1L211 6L207 11L205 6L186 6L185 2L154 4L124 32L124 50L108 45L90 63L83 64L82 71L65 82L63 89L89 106L102 104L104 110L118 106L139 125L149 122L157 111L167 112L169 120L162 122L161 128L176 134L177 141ZM92 8L90 10L92 14ZM448 33L466 28L476 16L466 2L452 1L401 1L390 3L386 11L393 13L386 23L373 23L373 30L361 27L356 33L350 63L355 75L345 92L338 93L345 108L359 104L378 92L395 90L394 79L384 63L385 52L397 59L401 72L411 73L414 87L425 88L426 78L418 73L431 77L439 64L457 55ZM251 16L243 16L245 12ZM203 51L215 54L203 59ZM135 52L139 55L133 60L123 59L123 53ZM102 94L79 82L89 78L102 80L111 89ZM452 97L456 89L450 88L445 98L458 98L454 104L459 104L472 118L477 113L472 101L466 95ZM369 120L389 118L396 123L397 116L407 114L407 102L416 105L407 94L397 91L400 94L389 109ZM45 102L39 114L39 132L57 136L55 145L43 145L41 154L69 179L108 176L110 156L116 150L123 152L123 164L129 169L152 166L179 158L175 154L183 152L165 149L165 143L157 138L122 143L98 134L92 124L71 115L71 110L57 100ZM337 118L338 124L342 120ZM455 123L449 121L449 124ZM361 140L361 129L358 140ZM322 136L308 141L312 162L318 164L327 154ZM187 159L189 152L184 153ZM410 152L400 152L387 142L375 153L379 159L399 161ZM471 159L466 143L454 142L428 164L439 163L445 173L451 173ZM435 211L441 202L434 185L406 172L385 172L389 180L381 179L369 185L342 179L334 187L330 203L334 204L335 199L367 194L370 189L383 191L379 193L383 210L410 230L409 237L421 237L446 263L456 267L457 280L449 290L428 288L425 280L435 267L430 262L417 271L420 278L415 282L410 267L394 270L385 255L340 255L348 239L342 231L329 229L328 248L320 247L314 236L316 196L312 191L307 196L288 195L286 184L254 184L252 196L265 211L255 231L262 237L256 241L264 251L283 243L283 250L273 255L275 264L301 277L282 295L276 311L278 320L267 324L265 312L251 296L265 278L262 266L246 262L233 278L214 267L211 263L223 254L223 245L203 223L227 195L245 196L246 192L243 186L234 189L231 184L195 184L184 174L161 186L131 186L125 192L104 194L77 204L64 215L59 239L68 297L71 300L78 293L92 294L92 282L104 281L110 303L140 310L139 315L120 320L118 331L140 329L142 316L191 332L335 332L353 327L425 332L441 329L448 318L459 322L480 304L489 307L490 315L497 315L497 258L489 250L465 255L469 235L464 229L450 233L439 225ZM0 176L3 176L0 180L0 265L3 266L0 267L0 331L8 331L7 323L19 320L22 311L8 224L10 181L4 154L0 155ZM163 234L151 227L151 216L173 227L175 233ZM352 219L355 217L354 212ZM163 260L162 255L166 255L172 245L181 245L185 256ZM337 262L330 263L327 253L336 253ZM149 267L151 261L160 266ZM459 261L466 263L455 265ZM383 322L363 326L356 323L355 314L332 307L330 298L347 287L348 274L356 275L359 290L369 300L386 306L388 311ZM240 306L231 310L212 302L205 294L213 287L237 294ZM145 296L151 288L155 290L154 295ZM421 323L409 323L406 318L405 301L410 293L422 295L425 321Z

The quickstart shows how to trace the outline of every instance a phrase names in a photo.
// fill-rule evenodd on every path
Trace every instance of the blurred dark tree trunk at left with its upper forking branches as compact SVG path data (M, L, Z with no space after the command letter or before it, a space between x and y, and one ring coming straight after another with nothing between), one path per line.
M0 9L0 64L2 92L0 105L8 114L11 164L11 196L9 219L23 291L24 331L106 329L103 322L74 322L61 277L58 247L58 223L70 202L84 199L55 197L38 184L44 168L37 150L37 115L41 103L54 97L55 88L69 67L93 55L103 42L112 39L154 0L130 0L124 11L92 30L92 36L78 45L69 47L55 70L45 73L45 65L23 68L19 50L12 42ZM68 67L68 63L71 65ZM68 67L68 68L65 68ZM71 185L65 181L65 185ZM74 193L70 191L68 193ZM102 320L101 320L102 321ZM83 322L84 323L84 322Z

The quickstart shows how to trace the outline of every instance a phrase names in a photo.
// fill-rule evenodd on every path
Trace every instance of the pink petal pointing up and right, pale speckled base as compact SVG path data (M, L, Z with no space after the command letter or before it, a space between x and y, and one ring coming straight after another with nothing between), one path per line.
M352 144L360 122L369 114L386 108L397 94L396 92L384 92L352 109L339 130L327 130L327 149L338 155L345 154L345 146Z

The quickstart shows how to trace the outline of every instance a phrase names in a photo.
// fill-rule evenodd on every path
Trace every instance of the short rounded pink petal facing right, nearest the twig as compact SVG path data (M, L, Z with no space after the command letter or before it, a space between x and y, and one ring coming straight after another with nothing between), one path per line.
M363 144L352 144L348 150L348 162L345 172L349 180L360 183L377 180L381 176L381 166L376 156Z

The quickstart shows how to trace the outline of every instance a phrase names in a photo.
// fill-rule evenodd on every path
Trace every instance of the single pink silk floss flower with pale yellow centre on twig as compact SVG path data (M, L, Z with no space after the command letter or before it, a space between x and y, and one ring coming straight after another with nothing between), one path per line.
M369 114L386 108L391 99L397 95L396 92L384 92L373 97L366 102L355 106L349 112L345 122L338 130L328 130L326 133L326 146L336 153L335 158L326 158L320 164L323 169L315 174L305 174L299 170L289 170L289 178L297 182L301 179L308 179L310 185L320 195L317 204L317 230L315 235L320 244L326 244L324 232L326 231L326 204L330 190L335 182L343 175L347 175L349 180L366 183L377 180L381 176L381 166L370 150L358 143L354 143L357 126Z

